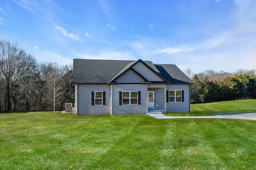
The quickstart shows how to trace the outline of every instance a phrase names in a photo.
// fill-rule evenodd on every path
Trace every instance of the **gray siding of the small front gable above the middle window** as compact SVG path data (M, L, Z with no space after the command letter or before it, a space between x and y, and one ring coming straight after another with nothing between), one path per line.
M116 79L116 82L118 83L142 83L143 81L144 80L132 70L128 70L118 79Z

